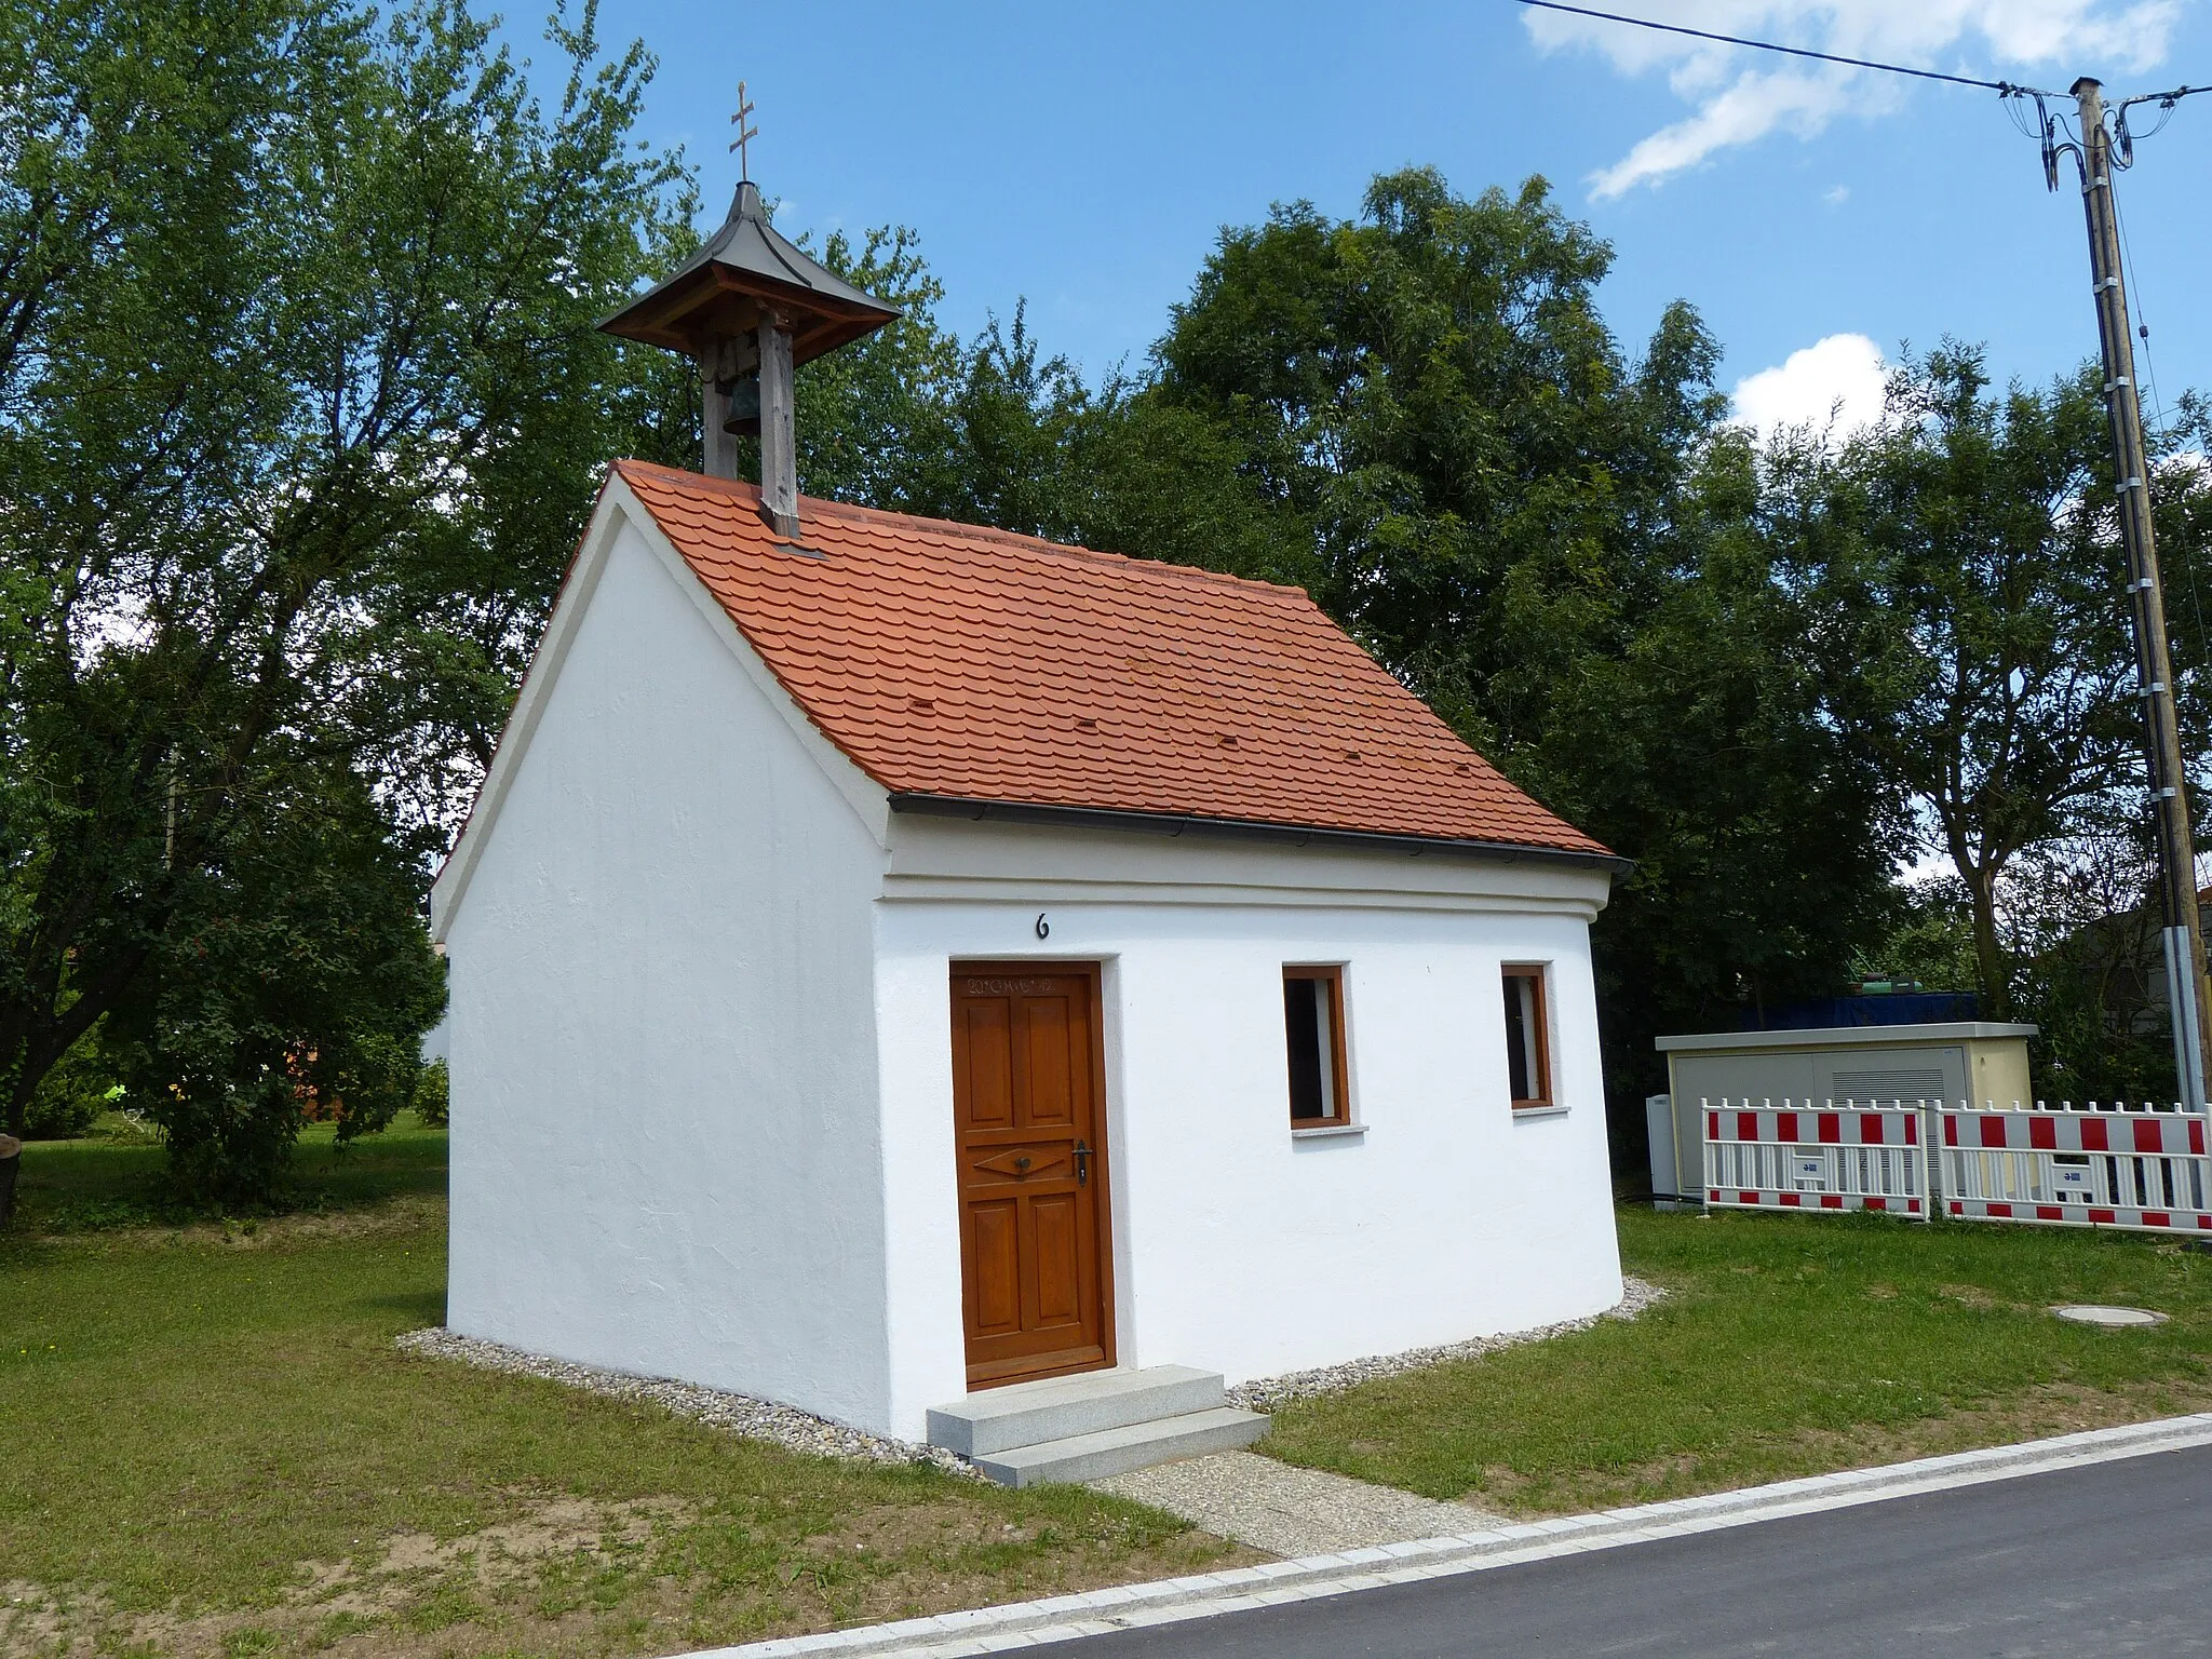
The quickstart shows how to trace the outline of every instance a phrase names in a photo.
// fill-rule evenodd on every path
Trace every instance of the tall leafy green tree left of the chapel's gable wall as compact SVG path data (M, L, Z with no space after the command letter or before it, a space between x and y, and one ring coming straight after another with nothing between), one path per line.
M108 1020L179 1179L250 1192L296 1091L411 1086L425 858L604 458L681 429L591 327L681 173L588 7L555 111L460 0L0 38L0 1102Z

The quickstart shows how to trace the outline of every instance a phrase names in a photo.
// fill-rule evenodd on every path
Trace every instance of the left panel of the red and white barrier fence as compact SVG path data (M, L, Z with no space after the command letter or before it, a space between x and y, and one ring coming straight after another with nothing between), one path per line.
M1705 1102L1705 1203L1891 1210L1929 1219L1920 1113L1812 1102Z

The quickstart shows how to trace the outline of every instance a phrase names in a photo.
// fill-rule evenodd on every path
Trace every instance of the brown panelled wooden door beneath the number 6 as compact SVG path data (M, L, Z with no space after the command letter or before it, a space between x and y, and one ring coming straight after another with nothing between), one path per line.
M969 1387L1113 1365L1097 964L953 964Z

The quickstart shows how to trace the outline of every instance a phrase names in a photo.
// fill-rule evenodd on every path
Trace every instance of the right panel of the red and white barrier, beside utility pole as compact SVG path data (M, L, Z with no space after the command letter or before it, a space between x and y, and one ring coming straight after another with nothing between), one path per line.
M1944 1106L1936 1119L1949 1217L2212 1232L2199 1113Z

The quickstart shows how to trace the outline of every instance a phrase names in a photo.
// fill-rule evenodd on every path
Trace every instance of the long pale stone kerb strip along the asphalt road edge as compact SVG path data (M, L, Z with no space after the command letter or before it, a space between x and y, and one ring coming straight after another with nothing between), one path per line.
M2121 1429L2088 1429L2028 1440L2017 1447L1960 1451L1947 1458L1918 1458L1880 1469L1845 1469L1834 1475L1807 1475L1772 1486L1677 1498L1639 1509L1608 1509L1597 1515L1489 1526L1442 1537L1407 1540L1374 1548L1305 1555L1263 1566L1237 1566L1225 1573L1194 1573L1157 1584L1119 1584L1082 1595L1053 1595L1042 1601L1013 1601L995 1608L940 1613L927 1619L900 1619L856 1630L825 1630L814 1637L781 1637L750 1641L739 1648L708 1648L684 1659L799 1659L801 1655L836 1655L836 1659L956 1659L958 1655L1006 1652L1046 1641L1128 1630L1144 1624L1208 1619L1217 1613L1281 1601L1307 1601L1349 1590L1374 1590L1385 1584L1482 1573L1495 1566L1517 1566L1582 1551L1641 1544L1655 1537L1683 1537L1723 1526L1750 1526L1781 1515L1812 1515L1885 1498L1978 1486L1989 1480L2077 1469L2084 1464L2141 1458L2154 1451L2212 1444L2212 1411L2188 1418L2135 1422Z

